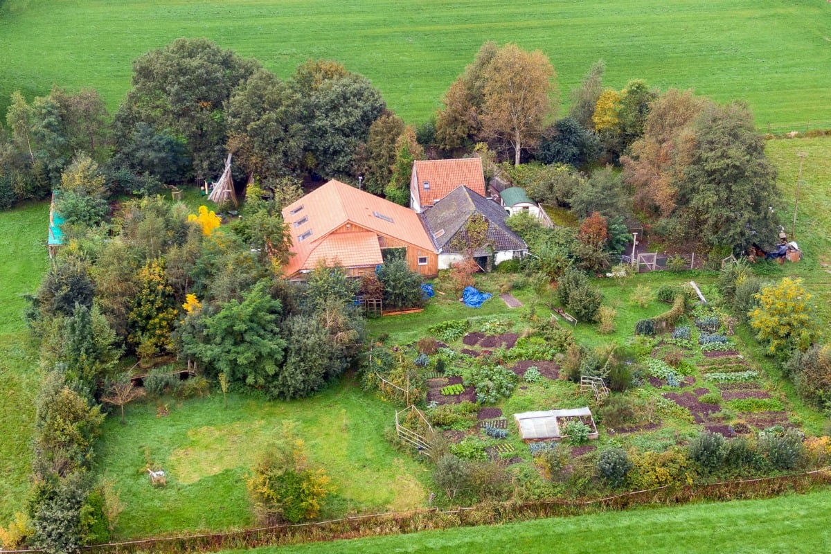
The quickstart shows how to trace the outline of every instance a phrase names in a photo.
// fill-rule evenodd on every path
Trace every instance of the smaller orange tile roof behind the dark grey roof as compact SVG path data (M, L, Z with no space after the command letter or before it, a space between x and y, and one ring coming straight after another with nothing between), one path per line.
M461 184L484 197L484 173L479 158L418 159L414 163L422 208L432 206ZM430 183L430 189L425 190L425 181Z

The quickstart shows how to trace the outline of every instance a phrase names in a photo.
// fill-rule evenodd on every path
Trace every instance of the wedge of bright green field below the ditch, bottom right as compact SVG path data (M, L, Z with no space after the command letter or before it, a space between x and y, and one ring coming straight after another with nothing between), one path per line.
M829 492L540 519L411 535L247 550L255 554L809 554L831 544ZM234 551L243 552L243 551Z

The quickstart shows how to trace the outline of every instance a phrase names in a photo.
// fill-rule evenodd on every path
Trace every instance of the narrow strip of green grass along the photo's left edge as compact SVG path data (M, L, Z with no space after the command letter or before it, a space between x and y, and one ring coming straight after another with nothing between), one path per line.
M29 488L37 350L23 322L24 292L46 272L48 203L0 212L0 525L22 508Z

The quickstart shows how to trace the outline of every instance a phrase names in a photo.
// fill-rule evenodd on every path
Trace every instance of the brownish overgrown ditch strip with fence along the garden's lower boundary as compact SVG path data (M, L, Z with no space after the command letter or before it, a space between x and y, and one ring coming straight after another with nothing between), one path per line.
M794 491L804 493L815 486L831 484L831 467L804 473L720 483L652 488L588 500L539 500L528 503L489 503L450 510L430 508L411 512L384 512L342 517L325 522L291 523L246 531L220 532L186 537L164 537L82 547L80 552L134 554L137 552L209 552L225 548L254 548L270 545L321 542L343 538L371 537L619 510L645 504L674 504L701 500L767 498ZM3 554L43 552L10 550Z

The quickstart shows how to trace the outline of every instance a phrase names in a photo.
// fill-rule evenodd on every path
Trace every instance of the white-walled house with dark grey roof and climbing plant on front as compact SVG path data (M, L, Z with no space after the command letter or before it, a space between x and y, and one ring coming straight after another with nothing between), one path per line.
M484 218L487 228L483 240L471 243L477 239L468 233L467 223L475 216ZM422 213L421 218L439 249L439 269L460 262L468 248L482 268L528 253L528 245L505 224L508 214L504 209L464 186Z

